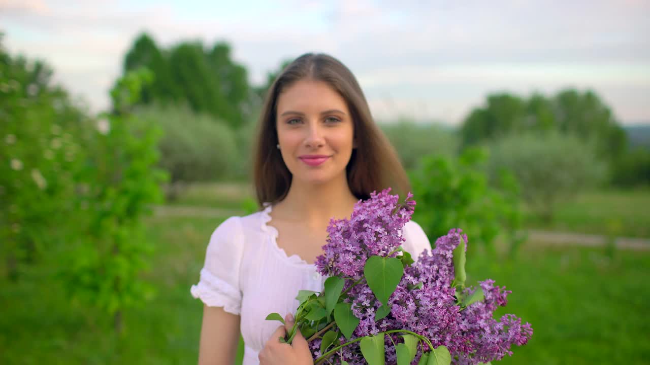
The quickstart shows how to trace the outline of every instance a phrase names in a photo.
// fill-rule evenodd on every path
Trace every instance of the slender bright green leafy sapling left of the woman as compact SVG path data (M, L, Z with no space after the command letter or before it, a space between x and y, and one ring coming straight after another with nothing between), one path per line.
M87 226L78 227L81 236L70 242L60 272L73 300L114 315L118 332L122 310L153 295L138 275L148 268L146 258L153 252L142 216L151 212L151 203L162 201L159 185L166 179L154 168L160 131L128 112L150 76L143 69L117 82L111 95L119 109L103 115L107 129L88 140L88 160L79 176L86 186L80 199L87 210L81 221Z

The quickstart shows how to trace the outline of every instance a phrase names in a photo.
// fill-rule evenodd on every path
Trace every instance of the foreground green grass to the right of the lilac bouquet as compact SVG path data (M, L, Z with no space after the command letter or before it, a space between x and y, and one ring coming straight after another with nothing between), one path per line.
M532 324L532 340L501 364L642 364L650 359L650 253L527 244L518 260L468 256L474 281L487 277L513 294L497 314Z

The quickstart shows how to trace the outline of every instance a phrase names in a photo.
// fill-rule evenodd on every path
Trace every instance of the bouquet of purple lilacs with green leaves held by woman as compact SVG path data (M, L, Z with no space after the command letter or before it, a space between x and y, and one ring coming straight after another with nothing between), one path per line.
M401 230L415 201L390 189L359 201L350 220L331 220L317 268L320 293L300 290L289 331L300 328L321 364L486 364L526 344L530 323L513 314L495 320L510 291L487 279L465 286L467 236L452 229L417 262L402 249ZM267 320L282 318L269 314Z

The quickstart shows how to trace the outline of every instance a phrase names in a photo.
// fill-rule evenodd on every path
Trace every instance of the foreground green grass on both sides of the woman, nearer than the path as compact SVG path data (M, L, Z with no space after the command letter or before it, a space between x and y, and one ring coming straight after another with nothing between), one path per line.
M146 307L127 310L125 333L71 305L53 270L0 279L1 364L194 364L201 302L189 294L210 234L225 217L149 218L157 251L144 275L157 288ZM491 277L513 290L506 310L532 323L531 342L502 364L650 363L650 253L557 249L526 244L515 261L493 262L470 248L470 280Z

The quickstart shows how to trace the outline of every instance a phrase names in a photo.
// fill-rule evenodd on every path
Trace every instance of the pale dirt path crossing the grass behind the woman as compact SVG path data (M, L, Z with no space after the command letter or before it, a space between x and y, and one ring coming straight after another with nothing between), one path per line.
M162 217L228 217L244 214L242 210L223 209L211 207L170 207L159 205L154 209L156 216ZM582 247L603 247L607 243L606 236L582 233L567 233L554 231L528 231L528 242L544 245L573 245ZM632 249L650 251L650 239L619 237L616 239L616 247L619 249Z

